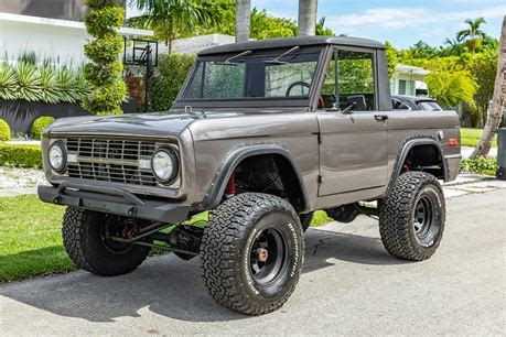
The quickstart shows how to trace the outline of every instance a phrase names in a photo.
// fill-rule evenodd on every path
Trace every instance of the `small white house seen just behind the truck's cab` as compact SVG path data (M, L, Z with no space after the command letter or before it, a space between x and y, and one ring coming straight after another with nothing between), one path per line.
M420 67L415 67L406 64L398 64L396 73L390 81L390 90L394 95L408 96L427 96L428 88L423 78L429 74Z

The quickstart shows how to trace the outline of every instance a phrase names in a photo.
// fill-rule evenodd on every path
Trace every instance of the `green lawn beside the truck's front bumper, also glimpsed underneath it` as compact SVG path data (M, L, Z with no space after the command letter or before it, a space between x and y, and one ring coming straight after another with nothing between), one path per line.
M0 198L0 283L75 269L62 246L64 211L65 207L42 203L36 195ZM206 219L203 213L192 221ZM312 226L330 221L319 210Z

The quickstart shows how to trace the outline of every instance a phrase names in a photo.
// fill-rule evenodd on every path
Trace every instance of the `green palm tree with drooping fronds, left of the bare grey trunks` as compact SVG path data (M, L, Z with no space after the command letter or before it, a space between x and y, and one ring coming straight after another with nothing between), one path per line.
M129 0L143 14L127 20L127 24L151 29L165 40L169 53L174 39L191 34L197 26L219 24L222 13L211 0Z

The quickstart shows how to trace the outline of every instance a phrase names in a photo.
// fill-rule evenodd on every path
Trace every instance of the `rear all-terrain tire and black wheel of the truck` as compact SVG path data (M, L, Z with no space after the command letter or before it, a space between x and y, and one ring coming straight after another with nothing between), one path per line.
M379 200L378 210L379 233L390 254L422 261L435 252L443 236L445 205L443 189L433 175L400 175Z

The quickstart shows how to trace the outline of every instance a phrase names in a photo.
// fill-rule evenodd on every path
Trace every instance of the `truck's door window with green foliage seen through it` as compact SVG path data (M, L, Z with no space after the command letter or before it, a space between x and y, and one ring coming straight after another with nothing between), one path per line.
M337 94L340 109L354 101L355 110L375 110L373 53L337 51Z

